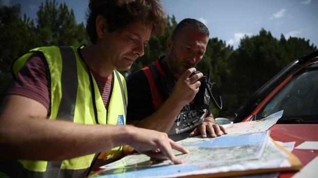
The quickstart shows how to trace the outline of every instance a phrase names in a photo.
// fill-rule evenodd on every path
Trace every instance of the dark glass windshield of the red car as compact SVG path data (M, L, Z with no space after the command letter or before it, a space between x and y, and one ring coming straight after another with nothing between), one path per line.
M277 124L318 123L318 63L295 75L271 98L256 120L284 110Z

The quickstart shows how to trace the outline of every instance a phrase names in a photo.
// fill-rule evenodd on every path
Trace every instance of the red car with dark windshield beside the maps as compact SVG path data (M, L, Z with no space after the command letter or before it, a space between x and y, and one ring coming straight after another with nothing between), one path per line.
M314 51L290 63L284 70L263 85L249 101L237 111L234 123L263 119L284 110L274 124L270 137L275 141L295 142L295 147L310 141L318 143L318 51ZM295 68L259 105L257 100L275 83ZM318 154L318 148L293 149L292 153L306 165ZM316 165L317 166L317 165ZM317 173L317 171L315 171ZM315 173L315 174L316 174ZM291 177L295 172L281 172L280 177ZM317 176L311 174L311 177ZM305 176L303 176L305 177Z

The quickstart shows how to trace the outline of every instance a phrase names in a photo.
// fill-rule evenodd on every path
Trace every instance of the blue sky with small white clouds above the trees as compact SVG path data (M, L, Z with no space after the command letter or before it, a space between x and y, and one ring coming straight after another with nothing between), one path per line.
M22 14L36 18L45 0L0 0L1 5L20 3ZM56 0L74 10L77 23L85 24L88 0ZM280 39L300 37L318 47L318 0L162 0L169 16L202 21L217 37L237 48L244 35L258 35L264 28Z

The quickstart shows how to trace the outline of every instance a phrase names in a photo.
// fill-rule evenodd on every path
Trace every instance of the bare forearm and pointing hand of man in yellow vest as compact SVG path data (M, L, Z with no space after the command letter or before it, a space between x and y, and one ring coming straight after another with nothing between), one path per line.
M129 125L83 125L38 120L41 121L37 124L22 122L17 125L16 131L0 128L0 159L65 160L120 145L131 145L145 153L160 149L160 152L149 156L157 159L168 157L175 164L180 164L182 161L175 158L171 148L189 152L169 140L166 133L154 130ZM1 117L0 124L3 121ZM27 129L19 130L23 124L30 125L27 125Z

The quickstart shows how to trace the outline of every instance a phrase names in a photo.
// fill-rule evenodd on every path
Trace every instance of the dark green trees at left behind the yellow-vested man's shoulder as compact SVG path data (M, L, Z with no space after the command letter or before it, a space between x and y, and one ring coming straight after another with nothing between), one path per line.
M84 24L76 24L73 10L66 4L57 7L55 0L41 4L37 19L21 17L21 5L0 8L0 101L12 84L12 61L41 46L72 45L88 42Z

